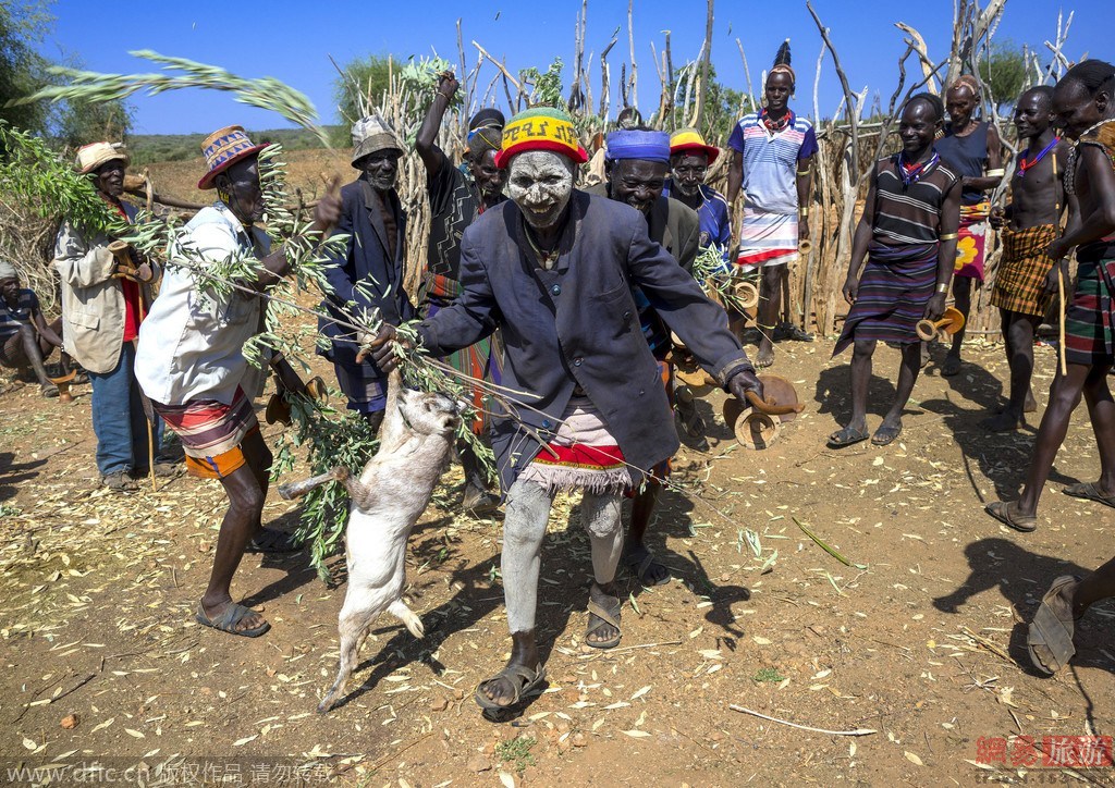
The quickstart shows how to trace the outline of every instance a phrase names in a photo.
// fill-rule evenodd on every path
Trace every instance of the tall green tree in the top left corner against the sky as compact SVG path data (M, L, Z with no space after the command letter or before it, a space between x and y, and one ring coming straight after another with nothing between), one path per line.
M9 106L49 81L50 65L35 51L54 19L45 0L0 3L0 121L32 132L46 132L50 113L42 105Z

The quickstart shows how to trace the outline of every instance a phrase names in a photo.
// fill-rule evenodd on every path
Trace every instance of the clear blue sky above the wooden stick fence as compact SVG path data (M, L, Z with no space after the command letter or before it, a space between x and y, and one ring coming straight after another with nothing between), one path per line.
M870 86L873 93L889 98L898 80L896 62L904 50L895 21L917 28L927 39L930 56L941 59L951 37L952 0L923 0L896 3L852 0L815 0L814 7L830 29L853 89ZM388 52L406 57L440 56L456 62L456 28L464 17L464 41L469 67L476 52L469 45L476 39L496 57L506 57L517 71L527 66L544 70L554 57L566 64L566 77L573 56L573 32L580 2L460 2L423 0L414 2L316 3L293 0L270 2L202 3L159 0L128 3L109 10L88 0L60 0L51 8L57 17L55 35L40 50L49 58L77 56L97 71L136 72L152 70L151 64L127 55L132 49L154 49L202 62L222 66L245 77L273 76L302 90L313 101L324 123L337 120L332 85L338 62L368 55ZM657 106L658 78L651 62L650 42L661 51L663 30L671 31L675 67L696 58L705 35L702 0L636 0L634 40L639 65L639 106L650 111ZM1075 11L1067 55L1077 59L1084 53L1111 59L1111 1L1079 0L1072 4L1043 0L1009 0L997 39L1012 39L1041 46L1053 39L1058 11L1067 17ZM377 10L378 9L378 10ZM498 18L497 18L498 17ZM585 56L597 52L592 62L593 93L599 94L599 52L618 27L620 42L609 62L613 84L619 81L621 61L629 59L627 41L627 1L591 0L589 3ZM779 42L791 39L798 75L796 105L811 113L813 78L821 36L804 0L757 2L718 0L712 39L712 61L721 81L745 89L743 62L736 39L743 42L754 82L768 68ZM1043 47L1044 49L1044 47ZM911 61L912 65L912 61ZM495 72L491 66L488 77ZM568 90L568 85L566 85ZM832 61L827 59L821 78L821 111L831 115L840 100L840 85ZM277 115L244 107L225 94L188 90L157 97L137 97L134 132L142 134L185 134L239 123L249 128L274 128L287 125ZM613 103L613 113L614 113Z

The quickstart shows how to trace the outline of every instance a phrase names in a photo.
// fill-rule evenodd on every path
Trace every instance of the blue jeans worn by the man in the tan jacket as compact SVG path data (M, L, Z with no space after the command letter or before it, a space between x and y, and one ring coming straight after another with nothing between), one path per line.
M97 434L97 469L101 476L119 470L147 470L147 417L143 412L135 376L136 350L132 342L120 348L112 372L89 372L93 386L93 431ZM163 445L163 419L155 417L153 436L158 458Z

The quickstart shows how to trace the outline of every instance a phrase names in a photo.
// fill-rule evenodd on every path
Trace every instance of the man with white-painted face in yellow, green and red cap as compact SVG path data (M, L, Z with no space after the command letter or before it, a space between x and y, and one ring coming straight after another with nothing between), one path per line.
M493 419L507 500L502 574L513 648L506 668L477 687L475 699L489 712L540 691L545 680L535 609L542 539L559 490L584 493L594 581L584 642L597 649L620 642L620 503L678 448L633 288L727 390L762 395L724 311L650 240L644 217L573 188L576 165L586 159L565 113L539 107L512 118L497 157L508 169L511 201L465 231L464 292L418 324L434 354L500 329L504 385L526 392L516 397L514 418ZM395 363L394 337L386 327L375 343L386 367Z

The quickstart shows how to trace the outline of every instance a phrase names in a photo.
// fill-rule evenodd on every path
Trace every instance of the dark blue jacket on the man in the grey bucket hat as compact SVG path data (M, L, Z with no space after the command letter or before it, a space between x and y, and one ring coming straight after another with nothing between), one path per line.
M384 320L392 325L417 317L410 299L403 290L406 214L395 189L388 193L387 198L398 216L395 260L390 260L388 254L379 198L372 193L371 185L361 176L341 188L341 217L333 235L348 235L348 245L345 256L332 255L326 267L326 279L333 289L333 294L321 302L322 310L338 320L347 319L346 312L338 308L350 302L356 303L356 309L348 309L357 314L361 310L378 308ZM332 340L329 349L320 351L322 356L338 363L356 366L357 346L351 328L319 318L318 330ZM338 341L338 338L343 340ZM375 369L370 360L365 364Z

